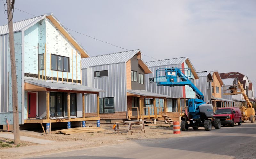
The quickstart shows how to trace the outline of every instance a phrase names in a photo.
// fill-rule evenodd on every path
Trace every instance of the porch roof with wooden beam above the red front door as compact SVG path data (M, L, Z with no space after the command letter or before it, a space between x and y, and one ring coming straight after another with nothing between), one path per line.
M38 79L25 79L25 90L29 90L27 87L26 89L26 83L30 84L28 86L30 90L36 89L42 91L42 88L46 88L46 90L52 90L52 91L74 91L74 92L81 92L81 93L97 93L97 92L105 92L104 90L92 88L88 86L84 86L81 84L70 84L70 83L64 83L64 82L52 82L52 81L45 81L45 80L38 80ZM33 86L37 86L33 88Z

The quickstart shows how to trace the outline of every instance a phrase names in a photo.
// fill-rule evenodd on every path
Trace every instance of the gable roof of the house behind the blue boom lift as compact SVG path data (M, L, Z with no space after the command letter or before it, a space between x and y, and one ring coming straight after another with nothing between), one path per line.
M189 60L188 57L148 61L148 62L146 62L146 64L148 65L148 67L158 67L158 66L182 64L183 62L186 62L188 64L188 67L191 68L191 72L193 73L195 79L199 79L199 76L196 73L196 70L195 70L194 66L192 65L192 63L191 63L191 61Z

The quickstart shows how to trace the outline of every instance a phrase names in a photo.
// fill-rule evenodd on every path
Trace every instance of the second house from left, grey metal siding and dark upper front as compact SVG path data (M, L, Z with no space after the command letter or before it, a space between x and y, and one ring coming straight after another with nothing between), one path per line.
M101 122L106 123L162 118L165 99L170 96L145 90L145 76L151 73L140 50L82 59L83 85L105 91L99 95L99 110L96 95L86 95L85 115L95 116L99 111Z

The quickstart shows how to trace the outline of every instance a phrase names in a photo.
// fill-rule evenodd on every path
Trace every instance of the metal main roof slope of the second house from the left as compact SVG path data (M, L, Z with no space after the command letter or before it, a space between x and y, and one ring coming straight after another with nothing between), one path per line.
M140 52L139 49L83 58L81 61L82 69L93 66L127 62L138 52Z

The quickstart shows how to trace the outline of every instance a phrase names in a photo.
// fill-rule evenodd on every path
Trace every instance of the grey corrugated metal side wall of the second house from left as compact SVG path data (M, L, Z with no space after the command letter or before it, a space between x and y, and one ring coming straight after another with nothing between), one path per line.
M115 112L127 111L127 97L126 97L126 76L125 63L109 64L102 66L89 67L82 70L83 78L87 72L88 82L82 81L82 84L90 87L102 89L106 92L100 92L100 98L115 97ZM87 71L88 70L88 71ZM107 77L94 78L94 71L108 70ZM91 82L89 82L89 78ZM97 103L95 94L85 95L85 112L97 112Z

